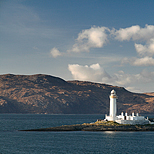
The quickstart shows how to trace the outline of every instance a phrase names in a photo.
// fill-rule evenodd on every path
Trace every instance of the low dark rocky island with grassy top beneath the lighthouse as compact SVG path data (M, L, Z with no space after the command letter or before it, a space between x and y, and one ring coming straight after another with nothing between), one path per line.
M76 125L62 125L59 127L29 129L20 131L154 131L154 124L129 125L111 121L96 121Z

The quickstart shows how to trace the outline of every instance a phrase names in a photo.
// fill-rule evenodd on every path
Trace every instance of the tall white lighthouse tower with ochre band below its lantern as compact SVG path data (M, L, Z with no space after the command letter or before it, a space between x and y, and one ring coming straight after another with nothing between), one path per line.
M116 99L118 96L116 95L115 90L111 91L110 95L110 114L109 116L106 115L106 120L108 121L115 121L116 120L116 113L117 113L117 103Z

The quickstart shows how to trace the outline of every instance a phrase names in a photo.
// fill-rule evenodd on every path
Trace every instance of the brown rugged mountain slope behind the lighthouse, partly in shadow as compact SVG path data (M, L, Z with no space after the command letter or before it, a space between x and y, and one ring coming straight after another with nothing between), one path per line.
M66 82L43 74L0 75L0 113L104 114L112 89L118 95L118 113L154 113L154 93L136 94L122 87Z

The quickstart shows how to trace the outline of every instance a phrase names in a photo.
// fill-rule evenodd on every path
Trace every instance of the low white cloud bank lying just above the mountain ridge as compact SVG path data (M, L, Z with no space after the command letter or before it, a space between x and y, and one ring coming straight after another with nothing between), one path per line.
M135 92L137 92L138 89L137 87L134 88L135 84L154 83L154 72L148 72L147 70L143 70L138 74L127 74L124 71L119 71L110 76L98 63L90 66L69 64L68 69L75 80L94 81L115 86L123 86Z

